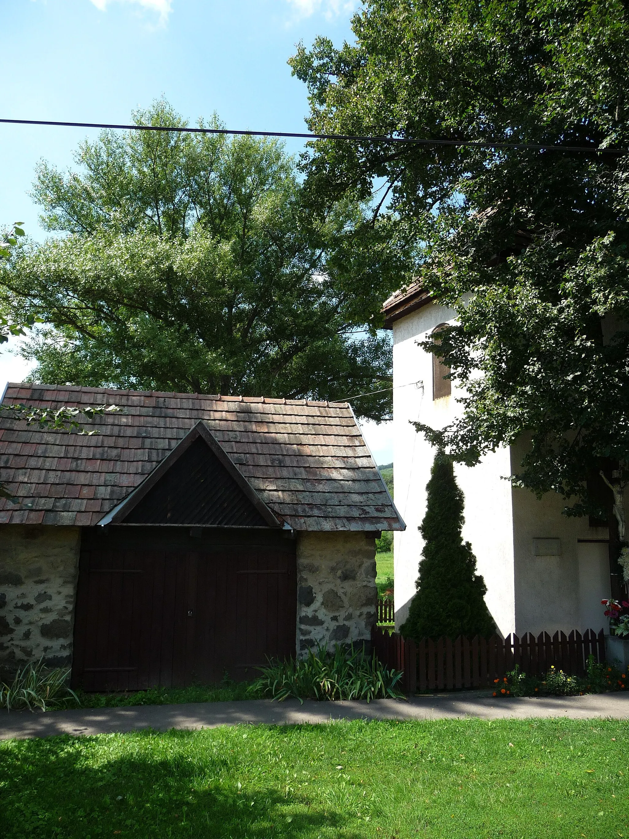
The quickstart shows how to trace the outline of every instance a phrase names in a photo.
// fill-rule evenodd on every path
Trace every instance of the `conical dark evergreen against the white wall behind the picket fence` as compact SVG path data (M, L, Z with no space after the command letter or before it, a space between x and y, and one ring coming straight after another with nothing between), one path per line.
M463 492L450 457L438 451L430 470L417 594L400 631L405 638L483 638L496 631L485 604L486 586L476 557L463 542Z

